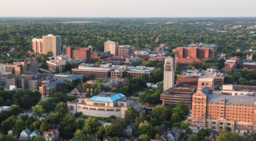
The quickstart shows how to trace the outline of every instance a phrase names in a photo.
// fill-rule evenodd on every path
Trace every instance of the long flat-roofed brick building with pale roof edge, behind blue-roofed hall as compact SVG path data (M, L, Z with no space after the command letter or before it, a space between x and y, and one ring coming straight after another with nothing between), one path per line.
M110 77L111 71L118 67L112 64L83 64L72 69L72 74L91 74L96 78L107 78Z

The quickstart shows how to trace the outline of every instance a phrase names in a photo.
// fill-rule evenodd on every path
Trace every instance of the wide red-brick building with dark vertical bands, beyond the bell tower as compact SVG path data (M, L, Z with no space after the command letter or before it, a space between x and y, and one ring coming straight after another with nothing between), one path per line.
M177 47L175 58L215 59L215 49L198 47Z

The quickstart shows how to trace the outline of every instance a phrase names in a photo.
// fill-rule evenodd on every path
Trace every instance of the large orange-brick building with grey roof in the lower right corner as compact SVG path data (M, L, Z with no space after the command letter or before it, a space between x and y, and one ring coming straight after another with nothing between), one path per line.
M256 131L256 97L223 96L211 94L209 88L197 91L192 98L190 128L198 132L201 128L215 131L231 128L232 132Z

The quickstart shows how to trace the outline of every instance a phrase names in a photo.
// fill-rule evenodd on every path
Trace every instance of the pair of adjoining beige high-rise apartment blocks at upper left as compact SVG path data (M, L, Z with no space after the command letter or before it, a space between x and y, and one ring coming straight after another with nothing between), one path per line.
M48 34L47 36L43 36L43 39L32 40L33 42L33 50L38 53L44 53L52 51L53 55L61 55L61 36L54 36L53 34Z

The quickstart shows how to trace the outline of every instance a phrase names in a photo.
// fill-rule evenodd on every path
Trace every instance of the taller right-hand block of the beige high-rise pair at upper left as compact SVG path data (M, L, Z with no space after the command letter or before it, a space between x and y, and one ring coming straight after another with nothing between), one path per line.
M48 34L43 36L43 50L42 53L47 54L47 52L52 51L54 56L61 55L61 36L54 36L53 34Z

